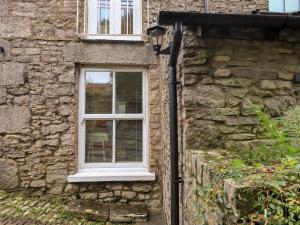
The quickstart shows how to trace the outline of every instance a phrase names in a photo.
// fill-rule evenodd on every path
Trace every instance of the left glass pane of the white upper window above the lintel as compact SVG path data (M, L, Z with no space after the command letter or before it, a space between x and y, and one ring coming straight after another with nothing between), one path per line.
M98 34L109 34L110 1L98 1Z

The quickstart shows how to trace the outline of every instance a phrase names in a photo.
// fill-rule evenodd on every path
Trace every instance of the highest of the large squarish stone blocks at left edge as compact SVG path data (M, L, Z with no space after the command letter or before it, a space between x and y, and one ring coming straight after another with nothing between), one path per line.
M24 84L24 65L21 63L2 63L0 65L0 86Z

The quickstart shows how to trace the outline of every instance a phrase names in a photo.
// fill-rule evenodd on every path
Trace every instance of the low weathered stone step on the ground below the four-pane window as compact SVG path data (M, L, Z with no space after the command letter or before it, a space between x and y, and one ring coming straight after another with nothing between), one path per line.
M88 218L91 221L109 223L147 222L148 209L144 205L108 205L98 202L73 200L66 211L75 217Z

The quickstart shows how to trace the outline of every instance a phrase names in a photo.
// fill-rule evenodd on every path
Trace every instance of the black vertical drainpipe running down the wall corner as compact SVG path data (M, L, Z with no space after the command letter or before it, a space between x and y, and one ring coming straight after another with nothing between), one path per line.
M182 23L175 22L169 59L170 161L171 161L171 225L179 225L178 123L176 67L182 41Z

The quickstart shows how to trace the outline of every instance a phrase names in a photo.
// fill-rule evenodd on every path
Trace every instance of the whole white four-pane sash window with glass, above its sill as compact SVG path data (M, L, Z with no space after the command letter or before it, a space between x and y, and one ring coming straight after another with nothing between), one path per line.
M80 168L146 168L145 85L140 70L83 70Z

